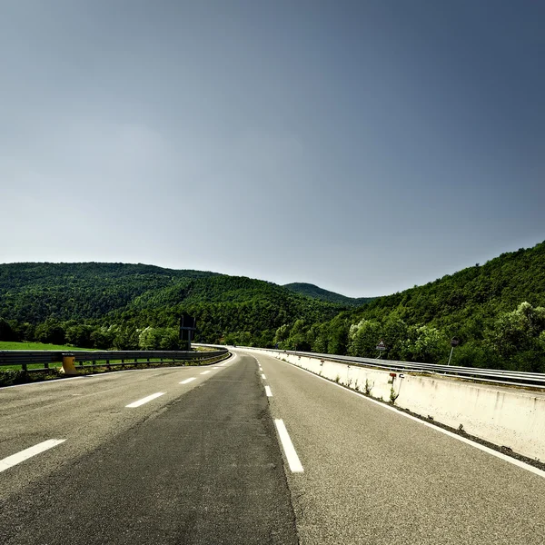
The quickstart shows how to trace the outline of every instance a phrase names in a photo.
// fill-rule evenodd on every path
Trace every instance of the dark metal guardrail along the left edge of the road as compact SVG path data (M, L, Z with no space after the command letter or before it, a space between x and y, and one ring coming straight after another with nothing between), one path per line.
M183 362L183 361L205 361L219 358L228 353L227 349L220 349L213 352L191 352L191 351L26 351L26 350L4 350L0 351L0 372L6 365L20 365L23 371L38 372L50 369L49 365L54 362L63 362L63 356L70 354L75 357L74 364L77 367L114 367L116 365L129 365L134 363L148 363L152 360L159 362ZM90 362L85 364L85 362ZM100 363L97 363L100 362ZM28 365L40 364L44 367L28 369Z

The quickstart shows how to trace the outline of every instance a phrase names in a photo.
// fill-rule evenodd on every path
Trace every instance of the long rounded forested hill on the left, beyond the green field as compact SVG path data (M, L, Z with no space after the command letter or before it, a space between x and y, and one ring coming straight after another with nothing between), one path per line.
M123 263L0 265L1 337L83 347L175 347L181 312L202 342L273 342L284 323L329 320L347 306L310 300L271 282Z

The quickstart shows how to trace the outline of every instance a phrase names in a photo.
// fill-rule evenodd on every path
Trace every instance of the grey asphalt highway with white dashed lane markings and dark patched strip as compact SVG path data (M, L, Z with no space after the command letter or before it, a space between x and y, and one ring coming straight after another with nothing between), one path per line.
M236 351L1 389L0 542L542 545L545 478Z

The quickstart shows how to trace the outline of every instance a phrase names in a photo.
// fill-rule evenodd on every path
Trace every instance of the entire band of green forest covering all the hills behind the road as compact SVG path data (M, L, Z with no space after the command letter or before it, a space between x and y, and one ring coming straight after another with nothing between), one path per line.
M357 307L308 286L122 263L0 265L0 340L176 348L188 312L201 342L377 357L382 339L388 359L446 363L456 336L453 364L545 372L545 243Z

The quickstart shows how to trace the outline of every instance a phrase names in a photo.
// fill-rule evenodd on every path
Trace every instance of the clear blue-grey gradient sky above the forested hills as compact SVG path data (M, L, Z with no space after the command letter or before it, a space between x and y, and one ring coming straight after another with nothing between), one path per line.
M0 262L401 291L545 239L545 4L0 0Z

